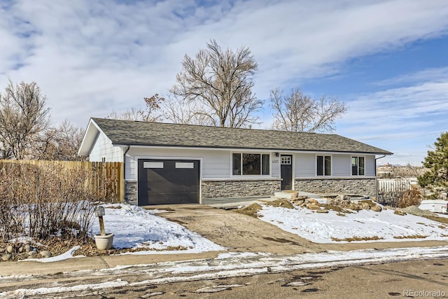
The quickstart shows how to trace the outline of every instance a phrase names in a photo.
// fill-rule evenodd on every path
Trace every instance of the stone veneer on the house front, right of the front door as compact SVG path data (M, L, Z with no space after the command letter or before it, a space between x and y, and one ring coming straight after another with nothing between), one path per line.
M376 179L295 179L294 189L309 193L377 196Z

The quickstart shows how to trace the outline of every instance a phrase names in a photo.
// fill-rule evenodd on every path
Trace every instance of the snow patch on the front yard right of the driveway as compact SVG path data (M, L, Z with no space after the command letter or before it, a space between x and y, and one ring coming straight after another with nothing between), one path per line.
M380 238L352 242L399 242L415 240L447 240L448 225L407 214L400 216L391 209L344 213L317 213L310 209L286 209L263 206L260 219L282 230L300 235L316 243L346 243L346 238ZM419 238L416 238L419 236Z

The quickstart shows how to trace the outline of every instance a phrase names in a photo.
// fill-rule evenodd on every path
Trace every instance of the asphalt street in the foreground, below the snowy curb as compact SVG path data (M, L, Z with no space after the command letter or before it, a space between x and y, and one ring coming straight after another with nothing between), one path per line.
M47 293L23 298L447 298L448 260L414 260L381 265L358 265L294 270L224 279L197 279L165 284L138 284ZM107 281L144 281L144 274L57 274L38 281L22 281L22 287L39 288ZM0 291L18 288L3 286Z

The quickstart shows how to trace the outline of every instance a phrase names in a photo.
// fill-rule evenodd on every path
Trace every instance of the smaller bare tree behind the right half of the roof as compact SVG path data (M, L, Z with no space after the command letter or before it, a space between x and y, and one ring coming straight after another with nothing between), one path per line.
M332 132L335 120L346 113L344 102L336 98L312 99L299 88L288 97L279 88L271 90L271 108L274 112L272 127L293 132Z

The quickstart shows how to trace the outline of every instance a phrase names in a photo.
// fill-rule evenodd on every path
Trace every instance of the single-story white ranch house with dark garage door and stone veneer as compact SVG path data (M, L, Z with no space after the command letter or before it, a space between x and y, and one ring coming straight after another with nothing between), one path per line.
M279 190L377 192L377 155L336 134L235 129L92 118L79 155L125 163L132 204L202 203Z

